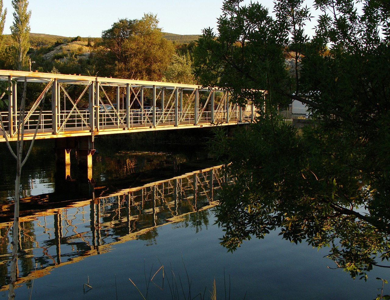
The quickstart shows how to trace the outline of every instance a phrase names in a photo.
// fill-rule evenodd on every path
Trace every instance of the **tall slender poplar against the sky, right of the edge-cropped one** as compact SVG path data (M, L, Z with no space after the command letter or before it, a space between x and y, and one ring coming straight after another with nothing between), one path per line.
M14 22L11 26L11 35L16 45L14 46L16 56L16 69L23 70L26 65L26 55L30 48L30 17L31 11L27 11L27 0L12 0L12 7L14 8Z

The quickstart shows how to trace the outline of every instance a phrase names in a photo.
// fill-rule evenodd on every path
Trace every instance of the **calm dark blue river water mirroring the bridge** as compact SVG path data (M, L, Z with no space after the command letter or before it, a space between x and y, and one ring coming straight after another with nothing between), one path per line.
M323 258L326 249L291 244L277 233L227 253L219 245L223 231L214 225L211 206L229 179L218 168L189 163L207 154L161 146L107 150L103 144L96 143L100 149L94 155L94 199L70 191L74 199L64 198L63 189L58 195L50 143L34 148L21 184L25 204L16 299L30 293L31 299L142 299L129 279L150 299L174 298L172 284L180 299L189 293L207 298L214 279L218 299L229 299L229 289L230 299L373 299L381 286L375 277L390 277L388 270L375 268L367 282L354 281L327 268L334 265ZM1 151L0 296L5 298L14 172L7 150Z

